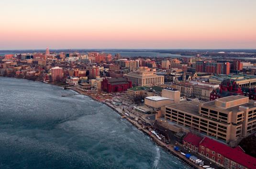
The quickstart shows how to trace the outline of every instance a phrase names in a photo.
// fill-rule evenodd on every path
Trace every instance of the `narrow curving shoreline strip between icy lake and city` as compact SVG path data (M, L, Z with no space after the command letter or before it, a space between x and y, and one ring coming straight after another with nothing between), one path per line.
M3 76L0 76L3 77ZM15 77L5 77L5 78L15 78ZM15 78L15 79L22 79L22 78ZM28 79L23 79L23 80L28 80ZM40 80L29 80L29 81L38 81L38 82L42 82ZM63 87L63 85L58 85L56 83L45 83L45 84L51 84L51 85L55 85L58 87ZM67 88L69 89L69 88ZM79 89L70 89L72 91L77 92L78 94L84 95L89 97L90 99L93 99L94 101L98 101L101 102L102 104L108 106L109 108L111 108L112 110L114 110L116 113L118 113L121 117L125 116L124 113L122 113L121 111L118 111L118 109L116 109L115 107L113 107L111 104L108 104L106 102L104 102L103 100L99 100L99 99L95 99L94 97L92 97L89 94L86 94L86 92L80 91ZM147 129L144 129L141 125L139 125L138 123L136 123L135 120L133 119L129 119L128 117L126 117L125 119L127 119L128 122L130 122L134 127L136 127L138 130L141 130L145 135L147 135L148 137L150 137L150 139L158 146L160 146L161 148L163 148L165 151L167 151L168 153L172 154L173 156L177 157L179 160L181 160L183 163L185 163L186 165L188 165L189 167L193 168L193 169L203 169L202 167L197 166L195 163L193 163L192 161L190 161L189 159L185 158L185 156L181 155L180 153L178 153L177 151L174 150L174 146L172 145L166 145L165 143L163 143L161 140L157 139L156 136L154 134L152 134L150 131L148 131Z

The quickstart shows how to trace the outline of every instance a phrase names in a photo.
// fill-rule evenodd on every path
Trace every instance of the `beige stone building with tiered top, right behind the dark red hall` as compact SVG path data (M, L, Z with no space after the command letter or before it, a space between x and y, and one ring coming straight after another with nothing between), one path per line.
M156 69L139 67L125 75L126 79L132 81L133 86L157 86L164 84L164 76L156 75Z

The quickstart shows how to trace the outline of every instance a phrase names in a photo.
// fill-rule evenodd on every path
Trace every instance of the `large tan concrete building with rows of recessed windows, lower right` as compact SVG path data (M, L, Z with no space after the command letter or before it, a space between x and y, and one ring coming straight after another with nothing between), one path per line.
M165 107L165 120L231 146L256 132L256 102L230 96L205 103L187 101Z

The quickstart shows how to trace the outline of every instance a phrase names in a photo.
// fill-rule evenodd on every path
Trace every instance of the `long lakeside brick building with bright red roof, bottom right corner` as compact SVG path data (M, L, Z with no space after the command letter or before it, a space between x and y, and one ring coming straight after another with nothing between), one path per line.
M226 169L256 169L256 158L245 154L241 147L231 148L208 137L188 133L183 139L185 147ZM198 148L198 150L196 150Z

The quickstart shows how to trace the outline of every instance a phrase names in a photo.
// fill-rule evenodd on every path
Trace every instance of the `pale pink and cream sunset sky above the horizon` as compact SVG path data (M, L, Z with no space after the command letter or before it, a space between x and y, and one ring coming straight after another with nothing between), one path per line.
M0 50L256 49L256 0L0 0Z

